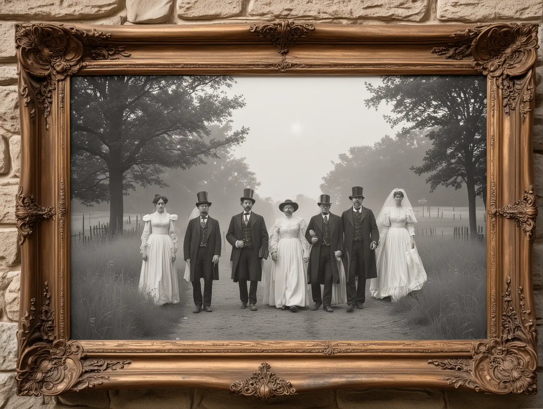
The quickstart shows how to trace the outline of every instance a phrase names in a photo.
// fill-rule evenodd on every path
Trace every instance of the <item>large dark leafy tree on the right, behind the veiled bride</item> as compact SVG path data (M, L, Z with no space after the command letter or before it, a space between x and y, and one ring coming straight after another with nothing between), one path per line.
M430 129L432 141L421 166L412 170L426 179L433 192L439 185L468 190L470 230L477 234L476 197L486 205L487 186L487 81L485 77L455 75L387 76L383 85L366 84L373 94L369 108L382 102L392 105L384 118L392 127L406 124L402 132Z

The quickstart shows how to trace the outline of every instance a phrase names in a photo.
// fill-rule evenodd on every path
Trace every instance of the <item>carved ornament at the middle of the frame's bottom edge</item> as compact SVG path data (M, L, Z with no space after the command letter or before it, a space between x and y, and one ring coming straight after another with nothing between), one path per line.
M271 367L267 362L262 362L258 367L258 372L253 372L252 376L242 381L233 382L230 385L230 391L239 395L254 396L266 400L279 395L293 395L296 389L292 383L277 377L271 372Z

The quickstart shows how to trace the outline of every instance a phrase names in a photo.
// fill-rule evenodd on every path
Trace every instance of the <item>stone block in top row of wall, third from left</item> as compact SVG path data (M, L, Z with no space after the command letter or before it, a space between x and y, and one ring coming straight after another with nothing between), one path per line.
M185 20L226 18L242 12L243 0L178 0L177 15Z

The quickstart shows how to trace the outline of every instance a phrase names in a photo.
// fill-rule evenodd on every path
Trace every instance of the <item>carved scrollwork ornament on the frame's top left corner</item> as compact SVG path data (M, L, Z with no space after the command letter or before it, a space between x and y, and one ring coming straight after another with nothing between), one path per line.
M53 23L15 24L15 48L20 75L19 92L24 106L36 105L49 129L49 114L56 83L77 73L87 60L116 60L130 56L124 47L114 47L111 34L93 29L85 32L75 27Z

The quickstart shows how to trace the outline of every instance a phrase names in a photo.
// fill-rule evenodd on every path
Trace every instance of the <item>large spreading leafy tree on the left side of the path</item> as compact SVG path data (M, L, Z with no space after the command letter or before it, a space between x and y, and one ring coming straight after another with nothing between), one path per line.
M165 187L167 168L219 158L248 129L217 139L210 124L230 122L244 106L225 92L227 76L74 77L71 90L71 197L110 203L109 232L122 230L123 196L137 185Z

